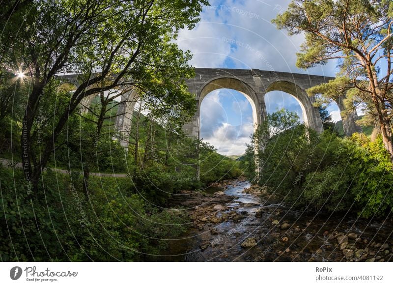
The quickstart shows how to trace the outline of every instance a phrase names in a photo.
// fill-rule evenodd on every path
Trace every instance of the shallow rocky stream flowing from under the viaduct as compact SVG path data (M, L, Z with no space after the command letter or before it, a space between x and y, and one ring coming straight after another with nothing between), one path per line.
M161 261L347 261L373 259L393 261L392 219L369 221L355 215L333 215L294 210L270 198L243 192L247 181L235 181L225 190L233 196L226 210L240 220L206 223L168 241ZM220 189L205 190L206 193ZM258 214L256 214L258 212ZM213 229L213 230L211 230ZM350 233L348 250L340 250L337 232ZM336 234L336 235L335 235ZM252 247L242 244L248 240ZM388 243L388 247L386 247ZM381 247L381 245L384 245ZM345 254L350 254L345 257Z

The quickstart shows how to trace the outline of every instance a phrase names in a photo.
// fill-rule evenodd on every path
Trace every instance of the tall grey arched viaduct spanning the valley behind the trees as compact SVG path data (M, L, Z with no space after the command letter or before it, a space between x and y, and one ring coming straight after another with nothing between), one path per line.
M251 103L253 108L254 124L258 125L266 119L265 94L269 91L279 90L291 94L299 102L303 110L303 119L306 124L317 132L323 131L321 117L318 108L313 106L315 98L309 97L306 89L326 83L334 78L287 73L264 71L259 69L220 69L220 68L196 68L196 76L187 79L186 83L189 91L196 95L197 112L192 120L184 125L184 130L189 136L199 139L199 111L203 98L211 91L219 88L230 88L241 92ZM61 76L71 81L77 78L73 76ZM84 98L82 105L88 106L95 95ZM356 111L344 116L343 99L341 95L337 99L338 108L341 111L344 132L347 136L357 131L355 121ZM132 122L132 113L138 99L137 91L131 90L121 95L121 100L115 121L115 128L121 135L120 143L124 147L128 146L129 130ZM87 111L87 110L86 110Z

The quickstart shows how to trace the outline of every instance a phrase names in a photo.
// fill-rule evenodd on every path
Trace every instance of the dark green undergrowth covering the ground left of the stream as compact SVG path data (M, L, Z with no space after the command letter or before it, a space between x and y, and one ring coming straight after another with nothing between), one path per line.
M127 191L129 178L91 177L88 197L79 177L49 171L43 182L44 199L30 200L22 172L0 167L1 261L149 260L187 222Z

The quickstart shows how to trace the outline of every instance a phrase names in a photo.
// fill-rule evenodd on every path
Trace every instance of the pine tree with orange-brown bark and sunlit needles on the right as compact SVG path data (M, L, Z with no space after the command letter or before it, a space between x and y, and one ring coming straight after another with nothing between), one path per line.
M298 67L340 61L336 80L310 88L309 94L337 99L346 92L352 110L366 103L393 158L392 17L390 0L293 0L272 22L290 35L305 33Z

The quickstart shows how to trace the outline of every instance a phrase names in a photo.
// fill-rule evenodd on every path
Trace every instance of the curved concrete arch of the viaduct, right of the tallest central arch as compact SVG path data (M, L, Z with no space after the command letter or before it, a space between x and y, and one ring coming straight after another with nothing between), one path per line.
M318 133L323 131L322 120L318 108L313 106L315 98L313 96L309 97L306 90L293 82L280 80L267 86L266 93L274 90L283 91L292 95L302 108L304 123Z

